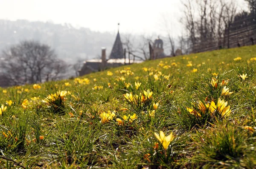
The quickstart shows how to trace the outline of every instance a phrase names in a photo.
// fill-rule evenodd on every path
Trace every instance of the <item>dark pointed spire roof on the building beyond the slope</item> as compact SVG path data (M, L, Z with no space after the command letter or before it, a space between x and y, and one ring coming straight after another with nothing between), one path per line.
M122 59L124 58L124 50L122 48L122 42L119 35L119 30L116 35L116 41L113 45L109 59Z

